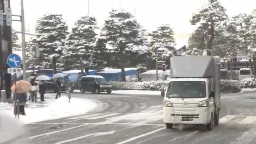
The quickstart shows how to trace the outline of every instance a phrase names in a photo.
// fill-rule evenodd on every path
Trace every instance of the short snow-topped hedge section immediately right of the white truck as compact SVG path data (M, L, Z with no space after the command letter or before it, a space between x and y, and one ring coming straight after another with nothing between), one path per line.
M241 91L241 82L238 80L220 80L220 91L235 93Z

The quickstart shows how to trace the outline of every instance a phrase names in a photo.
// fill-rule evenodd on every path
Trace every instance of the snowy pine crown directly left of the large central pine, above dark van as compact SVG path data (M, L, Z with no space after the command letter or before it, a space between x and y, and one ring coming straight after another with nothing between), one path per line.
M92 49L95 42L96 19L91 16L83 16L75 22L67 42L67 48L62 59L66 69L80 69L82 65L89 66Z

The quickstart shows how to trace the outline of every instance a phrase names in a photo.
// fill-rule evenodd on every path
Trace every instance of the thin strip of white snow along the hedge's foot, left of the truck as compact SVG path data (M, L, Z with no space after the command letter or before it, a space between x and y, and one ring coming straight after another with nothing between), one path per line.
M127 95L161 95L161 91L150 90L113 90L112 94L127 94Z

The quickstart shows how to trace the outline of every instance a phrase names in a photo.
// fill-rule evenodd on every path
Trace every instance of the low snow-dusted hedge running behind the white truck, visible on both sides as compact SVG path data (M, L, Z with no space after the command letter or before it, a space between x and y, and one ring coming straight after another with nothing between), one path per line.
M114 90L166 90L169 81L111 82ZM220 80L221 92L240 92L240 81Z

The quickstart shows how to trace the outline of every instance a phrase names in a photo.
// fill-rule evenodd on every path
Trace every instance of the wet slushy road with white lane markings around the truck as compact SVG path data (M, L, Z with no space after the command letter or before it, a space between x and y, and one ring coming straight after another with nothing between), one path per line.
M74 93L96 102L96 108L79 116L28 124L28 140L35 144L255 144L255 90L223 94L220 126L210 132L196 126L167 130L160 95L127 92Z

